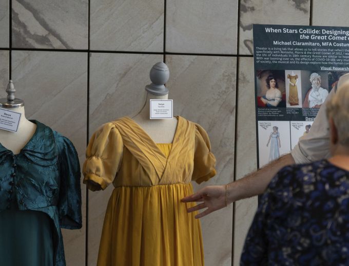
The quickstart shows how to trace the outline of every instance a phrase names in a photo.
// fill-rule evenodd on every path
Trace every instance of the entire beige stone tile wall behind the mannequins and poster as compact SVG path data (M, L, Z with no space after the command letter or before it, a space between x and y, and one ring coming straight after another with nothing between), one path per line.
M26 116L67 136L83 163L87 138L101 124L137 112L151 66L165 60L175 114L207 130L217 157L218 175L195 189L225 184L257 164L252 25L346 26L348 5L345 0L0 0L0 97L12 76ZM111 190L86 197L82 186L84 227L64 230L68 266L96 264ZM250 198L201 219L206 265L239 264L256 207L257 199Z

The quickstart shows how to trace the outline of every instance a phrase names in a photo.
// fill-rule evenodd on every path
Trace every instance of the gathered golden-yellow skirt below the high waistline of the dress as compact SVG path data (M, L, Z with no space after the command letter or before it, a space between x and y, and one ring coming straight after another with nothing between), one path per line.
M200 221L182 203L191 184L117 187L104 218L98 266L200 266Z

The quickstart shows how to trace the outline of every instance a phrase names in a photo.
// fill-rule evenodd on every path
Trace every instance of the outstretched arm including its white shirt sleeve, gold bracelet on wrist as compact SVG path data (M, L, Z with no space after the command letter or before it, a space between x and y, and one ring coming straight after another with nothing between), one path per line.
M335 90L326 98L331 99ZM317 161L329 156L329 132L326 119L325 104L323 104L318 112L318 115L312 125L312 130L308 134L301 137L299 143L293 148L292 155L286 154L278 160L273 161L262 169L247 174L244 178L228 184L228 204L264 192L270 180L284 166L297 163L308 163ZM313 130L314 128L314 130ZM279 142L280 145L280 142ZM295 161L295 159L296 161ZM188 212L201 210L203 212L196 215L196 218L201 218L213 211L219 210L226 205L225 191L226 185L208 186L197 193L183 198L183 202L202 202L202 204L188 209Z

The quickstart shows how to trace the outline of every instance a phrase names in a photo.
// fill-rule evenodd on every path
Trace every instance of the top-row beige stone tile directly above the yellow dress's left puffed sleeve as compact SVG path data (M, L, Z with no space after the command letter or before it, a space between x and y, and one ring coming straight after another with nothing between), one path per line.
M164 1L90 2L92 50L163 51Z

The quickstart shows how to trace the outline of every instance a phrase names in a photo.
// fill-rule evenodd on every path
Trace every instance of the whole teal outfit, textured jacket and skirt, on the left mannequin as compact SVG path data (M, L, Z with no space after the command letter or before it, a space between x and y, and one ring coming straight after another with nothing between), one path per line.
M82 226L79 159L67 138L32 122L20 153L0 144L0 264L64 266L61 228Z

